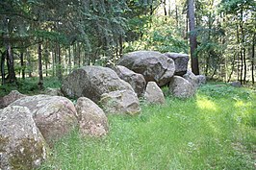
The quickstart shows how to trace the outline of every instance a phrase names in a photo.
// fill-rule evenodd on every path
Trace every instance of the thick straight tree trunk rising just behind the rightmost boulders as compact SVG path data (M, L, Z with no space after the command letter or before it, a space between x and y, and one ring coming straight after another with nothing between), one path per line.
M192 58L192 72L195 75L199 75L198 58L195 55L197 47L196 35L194 34L195 23L194 23L194 0L189 0L189 25L190 25L190 47L191 47L191 58Z

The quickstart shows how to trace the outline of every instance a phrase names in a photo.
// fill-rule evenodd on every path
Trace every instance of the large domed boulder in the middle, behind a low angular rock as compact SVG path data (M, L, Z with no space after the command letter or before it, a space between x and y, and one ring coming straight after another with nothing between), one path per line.
M88 97L97 103L103 93L131 90L132 86L121 80L114 70L102 66L84 66L70 73L62 85L65 96Z

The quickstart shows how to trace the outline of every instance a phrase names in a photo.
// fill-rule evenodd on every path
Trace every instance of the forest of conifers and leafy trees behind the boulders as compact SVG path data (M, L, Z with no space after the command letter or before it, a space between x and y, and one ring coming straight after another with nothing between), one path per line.
M2 85L115 65L125 53L191 54L195 75L254 84L254 0L2 0Z

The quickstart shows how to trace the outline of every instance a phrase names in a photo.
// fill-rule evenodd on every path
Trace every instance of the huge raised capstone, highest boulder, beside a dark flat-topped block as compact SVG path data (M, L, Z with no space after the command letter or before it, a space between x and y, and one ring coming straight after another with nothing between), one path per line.
M146 82L166 85L175 71L174 61L156 51L136 51L125 54L117 63L144 76Z

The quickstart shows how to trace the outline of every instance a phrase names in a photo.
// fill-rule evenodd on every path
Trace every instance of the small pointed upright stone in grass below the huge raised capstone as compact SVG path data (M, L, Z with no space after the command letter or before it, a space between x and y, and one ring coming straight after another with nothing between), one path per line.
M164 104L166 102L162 89L155 82L147 83L144 98L149 104Z

